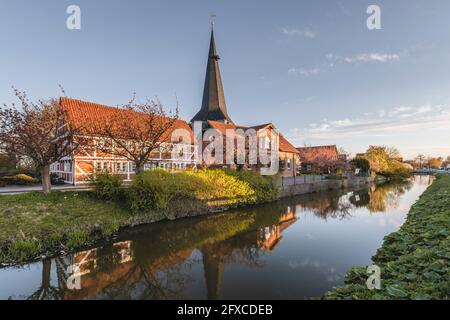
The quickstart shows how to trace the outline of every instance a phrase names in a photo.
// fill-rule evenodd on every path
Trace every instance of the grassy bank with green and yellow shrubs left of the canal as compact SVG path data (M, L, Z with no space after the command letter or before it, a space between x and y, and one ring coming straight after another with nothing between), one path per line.
M0 263L70 252L120 228L275 200L267 177L225 170L140 175L129 188L103 177L92 192L0 196Z

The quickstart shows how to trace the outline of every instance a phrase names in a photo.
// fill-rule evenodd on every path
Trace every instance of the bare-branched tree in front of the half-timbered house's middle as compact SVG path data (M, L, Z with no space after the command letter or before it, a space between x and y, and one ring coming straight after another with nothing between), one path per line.
M133 97L119 110L105 125L104 135L109 141L102 149L132 161L138 174L144 171L152 152L170 142L170 129L178 121L178 107L174 113L167 113L158 100L136 103Z

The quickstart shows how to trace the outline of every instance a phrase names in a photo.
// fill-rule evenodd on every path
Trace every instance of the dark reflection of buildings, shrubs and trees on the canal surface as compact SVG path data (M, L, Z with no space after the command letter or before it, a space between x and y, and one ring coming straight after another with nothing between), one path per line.
M218 299L227 265L263 267L283 233L310 211L345 218L352 208L395 206L408 184L351 193L315 194L201 218L124 232L117 242L42 262L42 284L30 299L189 299L186 287L203 273L203 298ZM375 201L375 202L374 202ZM77 266L79 290L70 290ZM76 281L75 281L76 282Z

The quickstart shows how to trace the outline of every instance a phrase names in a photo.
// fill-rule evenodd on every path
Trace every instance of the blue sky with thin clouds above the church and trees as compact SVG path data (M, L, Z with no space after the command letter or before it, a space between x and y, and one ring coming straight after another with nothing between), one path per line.
M82 29L66 28L79 5ZM382 30L366 27L381 7ZM11 85L118 105L133 92L201 105L209 13L229 114L272 121L297 146L450 155L448 0L2 0L0 102Z

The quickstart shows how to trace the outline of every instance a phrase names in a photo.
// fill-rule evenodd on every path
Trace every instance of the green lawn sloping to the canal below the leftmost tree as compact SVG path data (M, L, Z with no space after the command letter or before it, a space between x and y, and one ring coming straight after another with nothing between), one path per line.
M70 250L106 238L120 226L152 222L125 205L96 200L88 192L0 196L0 263Z

